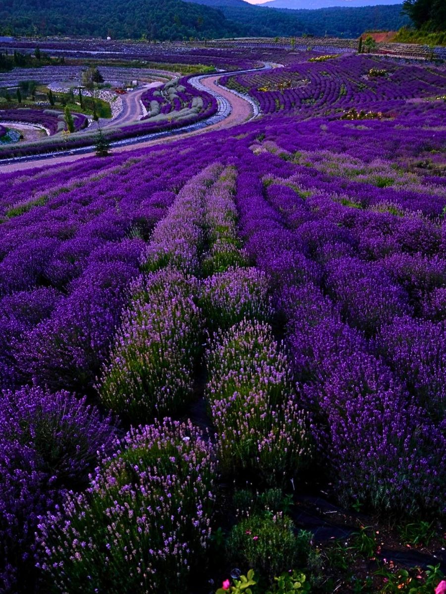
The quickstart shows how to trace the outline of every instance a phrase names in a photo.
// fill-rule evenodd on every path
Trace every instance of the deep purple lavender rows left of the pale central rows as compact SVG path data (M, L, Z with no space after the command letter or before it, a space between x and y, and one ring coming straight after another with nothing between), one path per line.
M54 510L65 489L83 488L96 451L103 444L105 455L115 439L110 419L101 421L96 409L58 390L92 393L126 288L138 276L144 238L200 168L199 162L184 168L183 159L172 163L166 154L164 163L130 160L96 175L90 170L83 181L40 193L38 207L10 211L2 225L3 254L9 254L1 290L0 573L7 591L32 591L39 514ZM169 169L163 179L154 175L160 164ZM5 390L29 383L53 392ZM8 421L13 409L20 431Z

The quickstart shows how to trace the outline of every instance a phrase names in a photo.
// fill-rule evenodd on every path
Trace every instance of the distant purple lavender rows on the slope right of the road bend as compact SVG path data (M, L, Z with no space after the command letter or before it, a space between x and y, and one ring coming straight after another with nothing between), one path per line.
M398 100L443 94L445 73L431 64L401 65L366 55L326 57L311 63L296 61L267 75L225 75L221 84L249 92L262 113L300 110L300 118L351 108L391 114Z

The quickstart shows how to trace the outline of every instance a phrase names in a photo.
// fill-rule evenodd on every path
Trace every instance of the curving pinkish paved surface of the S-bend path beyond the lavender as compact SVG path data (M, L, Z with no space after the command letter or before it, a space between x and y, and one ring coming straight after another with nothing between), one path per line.
M279 65L274 66L277 67ZM271 65L265 64L264 68L271 68ZM179 133L177 132L175 134L167 135L166 133L161 132L158 138L152 138L151 140L141 140L140 142L135 141L133 144L122 144L120 146L120 144L117 143L114 146L112 146L112 152L122 153L125 151L132 151L135 149L142 149L145 147L167 144L174 142L175 140L179 140L180 138L187 138L198 134L203 134L205 132L209 132L212 130L230 128L238 124L243 124L243 122L246 122L248 119L251 119L254 115L256 115L255 110L253 109L252 101L246 99L240 94L236 94L233 91L225 89L224 87L220 87L217 84L218 79L224 76L225 74L227 73L222 72L220 74L212 74L209 76L197 77L197 80L199 80L199 84L205 87L205 89L208 90L211 94L214 94L216 97L218 97L219 106L223 106L225 112L228 112L227 115L225 115L224 118L221 119L221 121L216 121L215 123L205 125L200 129L193 129L191 131L184 131ZM132 99L133 97L135 97L135 100L137 100L137 108L139 109L140 115L141 112L139 106L138 93L136 91L133 91L131 97ZM127 117L129 116L128 114L134 113L135 109L136 103L129 102ZM114 125L115 122L117 122L117 120L118 118L113 121ZM94 153L94 149L90 149L88 150L88 152L74 153L63 156L58 156L57 154L54 154L48 155L46 157L39 156L35 159L33 157L30 157L30 160L5 163L4 165L2 165L2 162L0 161L0 174L21 171L26 169L48 167L50 165L61 165L64 163L68 164L79 159L85 159L86 157L90 157L92 156L92 153Z

